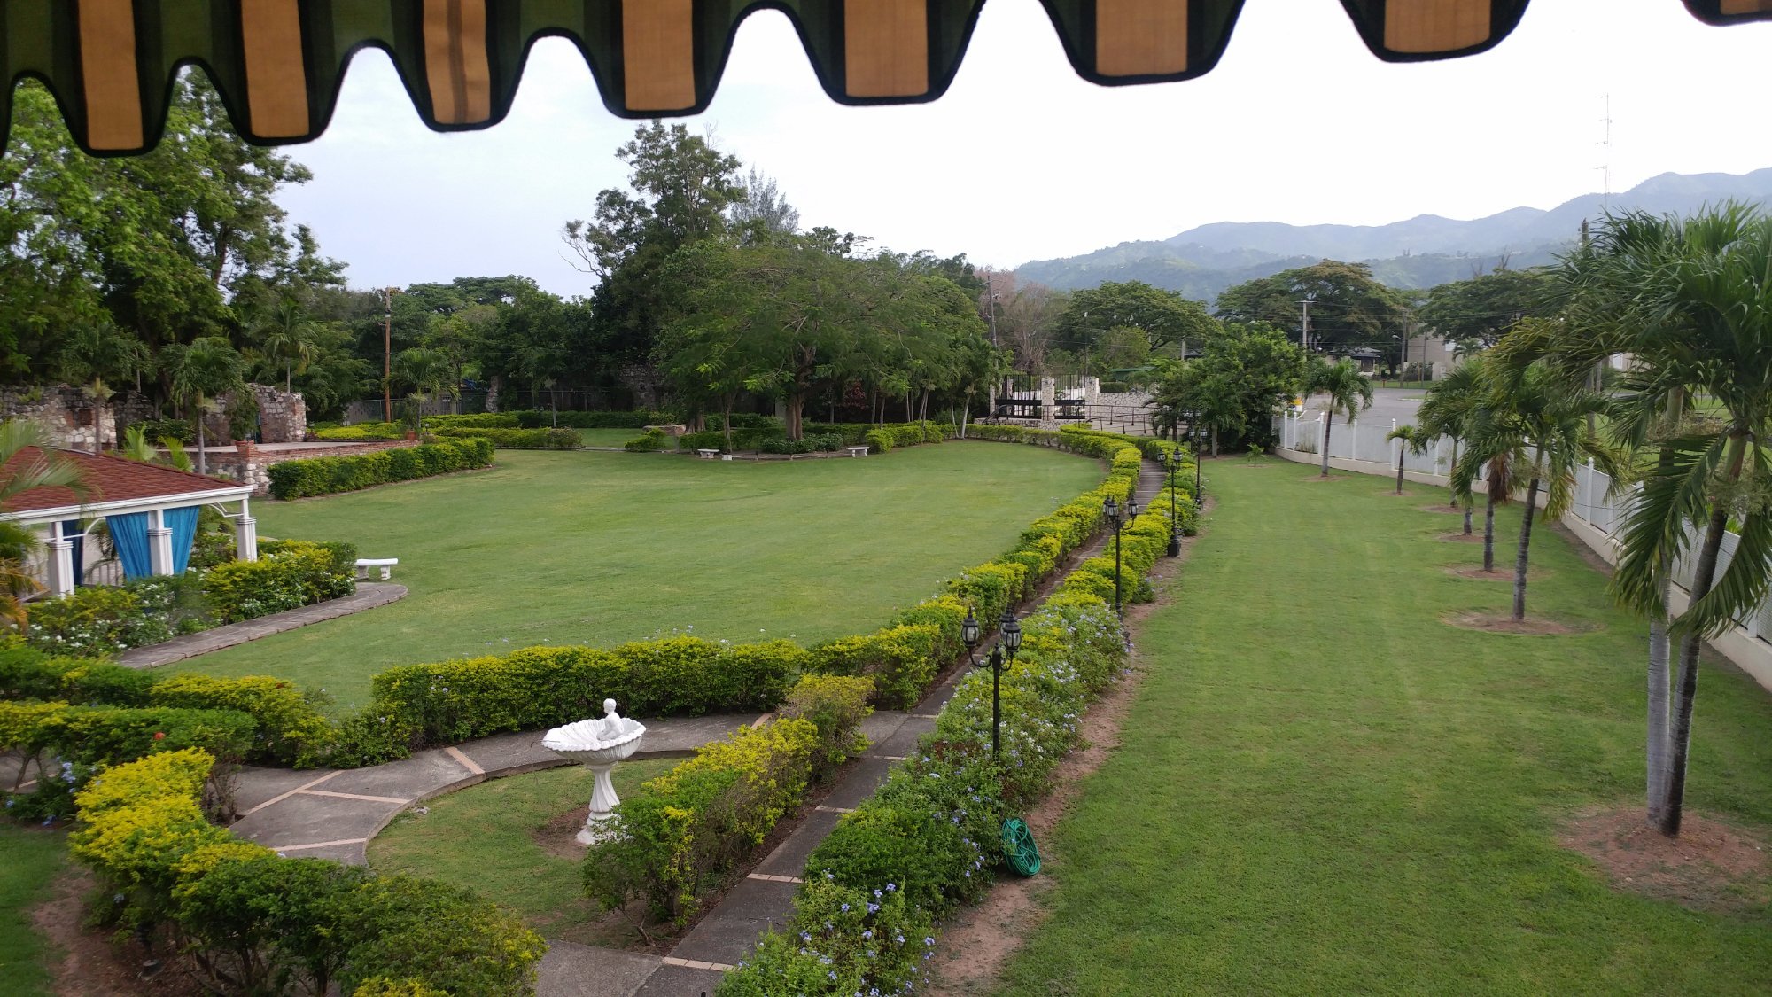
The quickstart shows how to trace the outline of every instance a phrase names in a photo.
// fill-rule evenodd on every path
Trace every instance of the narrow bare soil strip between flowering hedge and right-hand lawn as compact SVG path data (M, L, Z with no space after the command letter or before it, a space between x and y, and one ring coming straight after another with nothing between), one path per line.
M1203 513L1210 513L1212 506L1212 498L1207 497ZM1180 557L1157 561L1150 575L1157 585L1157 601L1127 608L1127 623L1134 632L1152 610L1170 601L1171 582L1198 539L1198 536L1184 539ZM1053 773L1056 786L1053 795L1022 814L1035 841L1040 841L1040 875L1031 880L999 878L982 901L962 908L941 926L934 958L929 963L930 979L925 985L925 993L960 997L994 990L998 974L1003 972L1010 956L1021 949L1028 933L1045 919L1047 910L1040 899L1053 889L1051 869L1063 866L1065 860L1063 853L1053 848L1049 836L1083 789L1083 779L1100 768L1120 745L1120 727L1132 708L1143 676L1145 669L1134 655L1131 672L1090 704L1083 715L1083 747L1058 765Z

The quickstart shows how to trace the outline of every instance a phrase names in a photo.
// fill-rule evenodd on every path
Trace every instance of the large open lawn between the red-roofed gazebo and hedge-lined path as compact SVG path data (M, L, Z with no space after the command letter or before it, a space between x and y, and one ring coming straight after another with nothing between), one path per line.
M792 463L500 451L487 472L253 506L260 536L399 557L411 594L172 667L275 674L349 708L397 663L689 628L867 632L1100 477L1099 461L978 442Z

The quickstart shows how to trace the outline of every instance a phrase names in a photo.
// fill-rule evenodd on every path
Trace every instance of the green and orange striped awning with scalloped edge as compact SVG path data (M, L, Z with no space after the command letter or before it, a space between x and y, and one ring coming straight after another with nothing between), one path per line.
M1286 0L1292 4L1329 0ZM1379 59L1483 51L1527 0L1341 0ZM1675 0L1667 0L1669 4ZM1097 83L1187 80L1212 69L1242 0L1044 0L1076 71ZM1772 18L1772 0L1683 0L1703 21ZM303 142L331 119L351 55L393 59L438 131L496 124L530 46L578 44L622 117L707 108L739 21L774 7L794 21L819 82L847 105L939 98L983 0L0 0L0 122L12 85L43 80L74 140L97 154L152 147L174 73L202 66L239 133Z

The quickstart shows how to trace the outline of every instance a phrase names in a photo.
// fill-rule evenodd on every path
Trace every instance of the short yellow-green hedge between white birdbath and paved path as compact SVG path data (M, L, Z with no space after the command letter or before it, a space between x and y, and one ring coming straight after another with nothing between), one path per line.
M774 722L741 727L640 786L615 807L618 834L585 855L585 887L606 910L645 899L654 921L684 924L744 860L806 784L867 747L874 683L806 676Z

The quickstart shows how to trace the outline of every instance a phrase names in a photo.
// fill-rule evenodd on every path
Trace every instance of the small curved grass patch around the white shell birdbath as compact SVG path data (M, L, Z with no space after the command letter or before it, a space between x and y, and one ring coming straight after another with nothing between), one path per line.
M638 791L675 759L627 761L615 766L615 795ZM501 903L548 938L622 947L634 930L604 917L585 896L583 862L542 848L537 832L590 800L590 770L574 765L493 779L395 818L369 843L369 864L379 873L431 876L470 887ZM574 823L576 832L576 823Z

